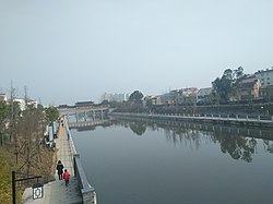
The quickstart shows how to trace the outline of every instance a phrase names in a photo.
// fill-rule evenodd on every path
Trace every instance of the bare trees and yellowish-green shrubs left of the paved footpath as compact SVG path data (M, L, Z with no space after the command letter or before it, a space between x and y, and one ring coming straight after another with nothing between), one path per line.
M11 203L11 171L20 176L43 175L44 182L52 173L54 152L43 145L46 125L59 118L56 107L35 106L25 96L24 108L14 100L0 101L0 203ZM29 183L28 183L29 184ZM27 184L22 183L22 188ZM20 201L22 192L19 191Z

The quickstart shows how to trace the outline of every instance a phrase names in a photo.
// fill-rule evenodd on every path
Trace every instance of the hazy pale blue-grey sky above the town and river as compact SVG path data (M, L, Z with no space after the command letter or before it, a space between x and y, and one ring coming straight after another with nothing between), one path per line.
M43 105L273 67L272 0L0 0L0 92Z

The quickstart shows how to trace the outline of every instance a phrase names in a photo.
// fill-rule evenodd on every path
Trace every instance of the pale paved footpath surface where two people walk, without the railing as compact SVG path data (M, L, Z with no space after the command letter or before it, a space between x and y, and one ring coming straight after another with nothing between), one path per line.
M27 188L23 194L24 204L79 204L82 203L82 195L74 177L72 152L68 141L66 127L60 127L58 139L55 139L57 152L57 160L61 160L64 169L71 173L70 183L68 187L64 180L59 180L58 175L55 175L56 181L44 185L43 199L33 200L33 190ZM56 171L57 172L57 171Z

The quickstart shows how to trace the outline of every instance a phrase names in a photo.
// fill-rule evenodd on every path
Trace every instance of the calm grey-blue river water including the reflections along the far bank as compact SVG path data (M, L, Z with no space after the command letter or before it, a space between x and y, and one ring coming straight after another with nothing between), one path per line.
M115 120L71 133L98 204L273 203L271 131Z

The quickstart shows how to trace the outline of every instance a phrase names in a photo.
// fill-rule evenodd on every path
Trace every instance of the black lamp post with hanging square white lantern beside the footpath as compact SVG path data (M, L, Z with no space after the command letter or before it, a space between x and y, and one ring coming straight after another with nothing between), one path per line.
M38 178L41 178L41 176L33 176L33 177L16 179L16 171L12 171L11 173L12 173L12 203L16 204L16 181L26 181L26 180L31 180L31 179L38 179ZM35 183L33 185L33 193L34 193L33 199L43 197L43 185L39 183Z

